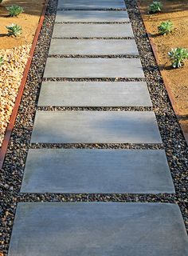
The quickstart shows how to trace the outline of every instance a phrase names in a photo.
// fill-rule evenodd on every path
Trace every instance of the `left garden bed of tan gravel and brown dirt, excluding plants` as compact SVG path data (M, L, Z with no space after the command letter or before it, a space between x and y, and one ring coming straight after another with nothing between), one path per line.
M45 0L4 0L0 5L0 57L5 61L0 67L0 147L14 109L44 3ZM10 17L6 7L12 5L21 6L24 13ZM7 35L6 26L12 23L22 26L19 37Z

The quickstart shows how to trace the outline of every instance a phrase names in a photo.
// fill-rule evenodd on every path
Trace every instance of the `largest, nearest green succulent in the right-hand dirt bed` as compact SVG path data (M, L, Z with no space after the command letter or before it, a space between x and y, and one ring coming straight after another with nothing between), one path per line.
M185 48L174 48L170 50L168 56L174 68L179 68L184 64L184 60L188 59L188 50Z

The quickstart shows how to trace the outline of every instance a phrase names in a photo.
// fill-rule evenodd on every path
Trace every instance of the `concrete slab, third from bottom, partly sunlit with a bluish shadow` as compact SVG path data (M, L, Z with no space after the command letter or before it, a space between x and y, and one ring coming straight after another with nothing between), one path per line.
M31 142L160 143L151 111L37 111Z

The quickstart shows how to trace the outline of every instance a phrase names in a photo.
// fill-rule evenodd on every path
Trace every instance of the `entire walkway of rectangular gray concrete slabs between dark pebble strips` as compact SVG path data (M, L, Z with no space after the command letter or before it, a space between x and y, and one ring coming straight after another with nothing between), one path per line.
M29 149L22 193L175 193L123 0L59 0L38 109L30 143L45 148ZM132 147L86 146L105 143ZM142 144L161 150L134 149ZM20 202L9 249L9 256L187 255L178 205L158 202Z

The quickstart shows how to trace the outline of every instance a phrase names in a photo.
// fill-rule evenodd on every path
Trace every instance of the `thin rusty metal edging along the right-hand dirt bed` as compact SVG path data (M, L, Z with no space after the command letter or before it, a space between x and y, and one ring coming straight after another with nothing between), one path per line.
M177 117L177 119L178 119L178 121L179 121L179 117L178 117L178 116L180 116L180 114L178 114L178 109L177 109L177 107L175 106L174 95L171 93L168 79L167 79L166 76L163 74L162 69L160 68L160 63L159 63L159 58L158 58L158 52L157 52L157 49L156 49L156 47L155 47L155 44L154 44L154 42L153 42L153 40L152 40L152 36L151 36L150 30L149 30L149 28L148 28L148 26L147 26L147 22L144 22L144 20L143 20L143 14L142 14L142 12L141 12L141 4L140 4L139 1L137 1L137 6L139 7L139 13L140 13L140 16L141 16L141 18L142 18L142 21L143 21L143 24L144 24L144 26L145 26L145 29L146 29L146 31L147 31L147 37L148 37L148 39L149 39L149 41L150 41L151 49L152 49L153 54L154 54L154 56L155 56L155 60L156 60L156 62L157 62L157 65L159 66L159 71L160 71L160 74L161 74L161 76L162 76L162 78L163 78L163 83L164 83L164 85L165 85L165 87L166 87L166 91L167 91L168 97L169 97L169 99L170 99L171 106L172 106L172 108L173 108L173 110L174 110L174 113L175 113L175 115L176 115L176 117ZM187 136L186 136L186 133L184 133L184 129L183 129L183 127L182 127L182 124L181 124L180 122L178 122L178 123L179 123L179 126L182 128L182 134L184 135L184 138L186 139L186 143L188 144L188 138L187 138Z

